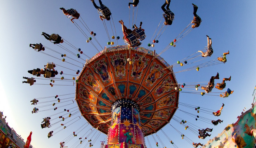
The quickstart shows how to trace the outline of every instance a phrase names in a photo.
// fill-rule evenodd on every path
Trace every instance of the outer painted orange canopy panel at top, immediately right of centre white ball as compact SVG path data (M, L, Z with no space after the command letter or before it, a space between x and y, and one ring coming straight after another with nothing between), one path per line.
M152 57L142 57L143 53L139 52L137 53L136 57L132 57L132 54L134 54L134 51L132 52L131 50L130 59L132 61L132 64L130 64L129 68L129 81L140 84Z

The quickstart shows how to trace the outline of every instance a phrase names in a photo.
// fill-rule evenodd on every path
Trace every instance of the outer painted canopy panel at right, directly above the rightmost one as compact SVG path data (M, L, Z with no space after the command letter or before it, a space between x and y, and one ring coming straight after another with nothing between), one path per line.
M152 92L153 97L156 99L172 91L175 91L173 83L175 83L173 76L170 74L167 75L167 77L165 77L161 82L159 82L157 87L153 90Z

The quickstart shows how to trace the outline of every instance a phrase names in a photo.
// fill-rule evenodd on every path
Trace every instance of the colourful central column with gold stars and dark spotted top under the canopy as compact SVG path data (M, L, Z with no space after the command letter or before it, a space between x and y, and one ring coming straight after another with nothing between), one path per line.
M144 133L140 124L140 107L129 99L112 104L112 121L105 148L144 148Z

